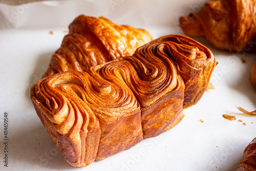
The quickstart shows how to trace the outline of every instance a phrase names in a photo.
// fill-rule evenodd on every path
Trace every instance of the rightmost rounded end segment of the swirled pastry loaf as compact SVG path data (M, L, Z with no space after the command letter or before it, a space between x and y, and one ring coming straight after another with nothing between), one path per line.
M186 36L163 36L148 44L156 42L166 42L164 51L176 63L185 83L184 108L189 108L196 104L206 91L217 64L215 57L208 48Z

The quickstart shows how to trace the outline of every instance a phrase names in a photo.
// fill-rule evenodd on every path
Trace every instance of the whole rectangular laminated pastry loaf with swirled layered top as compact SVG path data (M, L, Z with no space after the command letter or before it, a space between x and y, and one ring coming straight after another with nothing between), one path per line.
M67 162L83 167L179 123L215 66L199 42L168 35L88 72L45 77L31 87L31 99Z

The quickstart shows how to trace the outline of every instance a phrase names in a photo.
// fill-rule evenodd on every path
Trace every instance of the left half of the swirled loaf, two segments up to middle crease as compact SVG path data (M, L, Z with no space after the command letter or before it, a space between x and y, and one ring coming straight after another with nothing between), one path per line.
M31 98L48 133L73 166L87 166L142 140L140 105L125 86L68 71L35 83Z

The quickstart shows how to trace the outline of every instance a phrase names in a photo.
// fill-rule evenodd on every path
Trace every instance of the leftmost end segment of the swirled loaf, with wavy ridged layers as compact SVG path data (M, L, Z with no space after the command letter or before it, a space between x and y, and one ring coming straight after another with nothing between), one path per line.
M67 162L73 166L87 166L97 155L99 120L79 98L58 91L54 83L56 78L58 75L35 83L31 88L32 102Z

